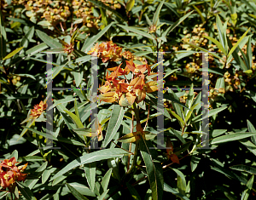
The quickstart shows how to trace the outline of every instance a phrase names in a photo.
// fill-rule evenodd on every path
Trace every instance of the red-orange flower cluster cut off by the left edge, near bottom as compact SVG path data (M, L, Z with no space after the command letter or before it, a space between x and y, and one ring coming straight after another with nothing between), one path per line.
M16 167L16 159L12 157L10 159L5 159L0 163L0 182L3 189L6 187L12 186L15 181L25 180L26 174L22 174L26 165Z

